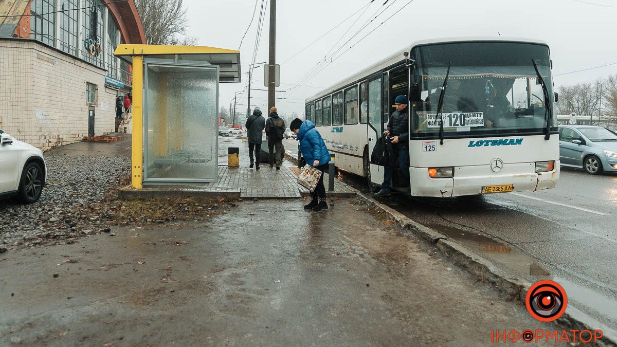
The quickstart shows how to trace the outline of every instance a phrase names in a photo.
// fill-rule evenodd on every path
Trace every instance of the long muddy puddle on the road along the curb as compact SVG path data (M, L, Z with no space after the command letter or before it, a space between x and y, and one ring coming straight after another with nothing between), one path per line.
M528 274L537 280L552 279L550 272L538 264L535 259L526 256L505 243L500 243L487 236L466 232L465 230L449 227L447 225L427 224L426 226L439 230L439 232L448 236L452 240L457 241L461 245L466 246L467 248L470 248L483 256L500 262L516 273Z

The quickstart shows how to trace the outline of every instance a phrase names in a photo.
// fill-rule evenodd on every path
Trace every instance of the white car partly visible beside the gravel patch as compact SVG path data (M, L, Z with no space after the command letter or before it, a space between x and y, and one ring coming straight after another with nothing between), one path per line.
M43 151L0 130L0 198L31 204L47 180Z

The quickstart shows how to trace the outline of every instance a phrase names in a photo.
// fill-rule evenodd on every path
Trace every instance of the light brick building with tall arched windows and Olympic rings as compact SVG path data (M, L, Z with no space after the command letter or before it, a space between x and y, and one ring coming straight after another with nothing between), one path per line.
M146 43L135 2L2 0L0 16L0 128L41 149L114 132L133 84L114 50Z

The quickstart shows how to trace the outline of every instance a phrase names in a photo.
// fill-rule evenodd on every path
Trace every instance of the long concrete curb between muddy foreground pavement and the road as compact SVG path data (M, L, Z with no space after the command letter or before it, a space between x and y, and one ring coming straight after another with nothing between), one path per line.
M404 214L395 211L391 207L365 196L360 193L360 191L356 191L356 193L358 197L363 199L370 206L379 209L383 214L386 214L389 219L394 220L400 227L403 235L415 235L425 241L428 241L432 245L435 245L442 254L452 259L452 261L458 265L464 267L471 274L476 275L476 277L481 280L487 280L495 285L500 292L505 293L512 299L520 301L520 303L524 305L527 291L531 287L532 283L518 278L515 274L508 271L499 269L499 267L494 265L489 259L480 256L465 246L459 245L455 241L448 240L447 236L442 233L418 224ZM563 314L563 316L561 316L556 323L565 329L594 330L594 327L590 327L585 322L582 322L582 320L568 314L568 312ZM615 341L606 336L602 337L597 342L600 346L617 346Z

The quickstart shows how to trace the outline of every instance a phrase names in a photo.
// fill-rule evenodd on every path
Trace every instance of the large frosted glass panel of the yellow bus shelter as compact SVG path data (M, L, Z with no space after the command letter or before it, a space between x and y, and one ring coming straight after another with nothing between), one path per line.
M146 66L144 182L214 182L217 67Z

